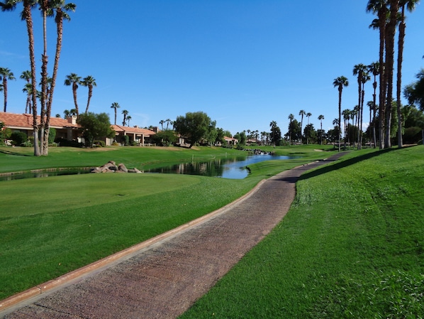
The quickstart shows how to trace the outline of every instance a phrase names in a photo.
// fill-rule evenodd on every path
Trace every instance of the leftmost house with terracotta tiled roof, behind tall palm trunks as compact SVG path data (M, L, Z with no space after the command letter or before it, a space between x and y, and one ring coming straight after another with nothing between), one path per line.
M4 124L4 127L11 129L12 132L21 131L26 133L28 137L33 136L33 114L0 112L0 122ZM38 116L37 122L40 124L40 116ZM79 141L81 139L77 117L73 116L68 119L51 117L50 127L56 129L57 139L66 139L67 141Z

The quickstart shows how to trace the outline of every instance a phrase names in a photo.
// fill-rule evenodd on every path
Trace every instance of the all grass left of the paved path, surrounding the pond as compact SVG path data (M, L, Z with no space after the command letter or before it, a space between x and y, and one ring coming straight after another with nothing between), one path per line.
M34 157L30 148L0 148L0 169L99 166L110 160L143 168L240 153L224 148L50 148L49 156ZM0 299L212 212L263 178L328 156L306 148L302 158L255 164L243 180L85 174L0 182Z

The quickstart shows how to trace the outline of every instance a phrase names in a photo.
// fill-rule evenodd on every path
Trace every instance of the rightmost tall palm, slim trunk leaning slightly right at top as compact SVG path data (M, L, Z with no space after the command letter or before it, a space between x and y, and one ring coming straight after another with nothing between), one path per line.
M398 72L396 81L396 102L398 112L398 148L402 147L402 112L401 112L401 86L402 86L402 60L403 60L403 43L405 38L405 9L409 12L415 10L415 7L420 0L399 0L401 6L401 21L399 23L399 36L398 36Z

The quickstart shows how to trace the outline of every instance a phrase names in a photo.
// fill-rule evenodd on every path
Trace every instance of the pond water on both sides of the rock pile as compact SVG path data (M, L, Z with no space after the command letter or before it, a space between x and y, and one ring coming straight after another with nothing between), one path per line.
M246 166L269 160L288 160L298 158L299 156L277 156L270 154L238 156L231 158L214 158L209 161L179 163L177 165L163 166L161 168L153 168L144 170L143 173L173 173L173 174L189 174L204 175L219 178L242 179L249 174ZM23 178L42 178L57 175L77 175L89 173L89 168L80 169L62 169L45 170L30 173L11 173L0 175L0 181L17 180Z

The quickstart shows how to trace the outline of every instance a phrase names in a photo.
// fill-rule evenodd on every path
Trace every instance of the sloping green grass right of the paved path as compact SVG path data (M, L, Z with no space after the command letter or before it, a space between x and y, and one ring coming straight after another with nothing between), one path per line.
M181 318L423 318L424 147L304 174L279 225Z

